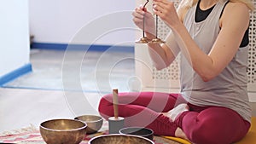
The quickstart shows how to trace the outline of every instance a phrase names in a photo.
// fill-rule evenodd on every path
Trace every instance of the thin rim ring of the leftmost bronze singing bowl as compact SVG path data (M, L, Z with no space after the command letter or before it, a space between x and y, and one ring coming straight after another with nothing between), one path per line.
M45 123L48 123L50 121L55 121L55 120L69 120L69 121L76 121L76 122L79 122L81 124L84 124L83 127L80 127L80 128L76 128L76 129L70 129L70 130L55 130L55 129L50 129L50 128L46 128L44 127L42 124L45 124ZM83 121L80 121L80 120L77 120L77 119L69 119L69 118L56 118L56 119L49 119L49 120L46 120L44 122L42 122L40 124L40 128L44 129L44 130L51 130L51 131L75 131L75 130L85 130L87 128L87 124L84 123Z

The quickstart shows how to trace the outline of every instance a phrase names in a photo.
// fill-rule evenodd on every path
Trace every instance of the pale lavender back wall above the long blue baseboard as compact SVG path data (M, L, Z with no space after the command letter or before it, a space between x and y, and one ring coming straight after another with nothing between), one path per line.
M86 25L106 14L135 9L132 0L30 0L30 31L36 43L70 43L76 33ZM116 20L96 23L91 34L100 31L98 27L126 21L127 27L135 27L132 17L125 15ZM96 44L114 44L134 41L134 30L109 32L96 41ZM90 44L84 37L79 43ZM125 43L126 45L127 43ZM130 43L131 44L131 43ZM130 45L128 43L128 45ZM133 43L132 43L133 44Z

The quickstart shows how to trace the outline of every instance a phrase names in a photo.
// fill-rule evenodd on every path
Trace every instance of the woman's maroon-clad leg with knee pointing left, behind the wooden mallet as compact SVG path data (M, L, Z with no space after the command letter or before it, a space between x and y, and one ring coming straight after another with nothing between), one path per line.
M155 135L174 135L177 130L168 112L183 99L178 94L160 92L119 93L119 116L125 118L125 126L141 126L154 130ZM99 105L103 118L113 116L113 97L105 95Z

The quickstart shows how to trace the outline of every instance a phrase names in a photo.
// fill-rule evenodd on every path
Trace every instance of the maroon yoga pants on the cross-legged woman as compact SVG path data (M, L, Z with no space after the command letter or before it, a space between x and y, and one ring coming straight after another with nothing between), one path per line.
M196 144L230 144L241 140L249 130L250 123L226 107L188 103L189 112L181 113L174 122L161 114L181 103L188 102L180 94L119 93L119 117L125 118L125 127L147 127L154 130L154 135L174 136L179 127ZM103 118L113 117L112 95L102 97L99 112Z

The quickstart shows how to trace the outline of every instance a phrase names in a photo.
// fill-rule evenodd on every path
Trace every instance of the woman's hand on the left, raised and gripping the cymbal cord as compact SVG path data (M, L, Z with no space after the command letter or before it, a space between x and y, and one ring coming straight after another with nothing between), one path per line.
M155 24L154 24L154 17L151 13L148 12L146 8L143 6L136 8L135 11L132 13L133 15L133 22L138 26L140 29L143 30L143 17L145 16L144 22L144 31L146 33L150 33L155 35Z

